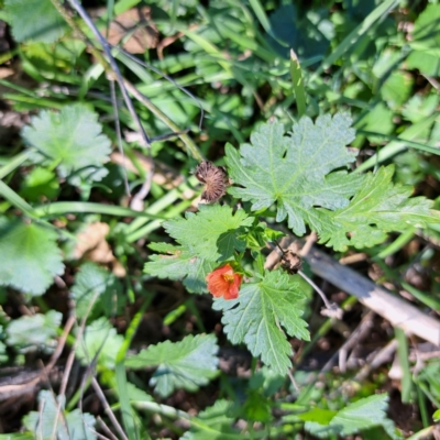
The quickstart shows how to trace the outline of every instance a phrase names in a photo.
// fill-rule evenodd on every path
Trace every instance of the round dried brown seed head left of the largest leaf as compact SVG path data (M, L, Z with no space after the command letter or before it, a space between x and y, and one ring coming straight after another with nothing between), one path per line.
M227 194L227 188L230 184L223 166L217 166L212 162L204 161L197 165L194 175L205 184L201 201L212 204Z

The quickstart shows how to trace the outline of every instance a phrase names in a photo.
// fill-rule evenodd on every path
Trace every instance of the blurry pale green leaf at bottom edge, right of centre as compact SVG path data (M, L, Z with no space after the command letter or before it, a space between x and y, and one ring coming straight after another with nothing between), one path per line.
M321 425L317 421L307 421L306 430L319 438L328 438L330 433L338 433L345 438L361 430L382 426L392 439L402 438L395 430L394 424L386 417L388 396L377 394L348 405L339 410L330 421ZM312 410L314 411L314 410ZM312 413L311 411L311 413ZM307 414L299 415L304 420L310 419Z

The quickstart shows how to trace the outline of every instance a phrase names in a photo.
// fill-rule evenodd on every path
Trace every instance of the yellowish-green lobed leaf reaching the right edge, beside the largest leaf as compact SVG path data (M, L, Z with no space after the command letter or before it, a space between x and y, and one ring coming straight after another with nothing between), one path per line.
M440 212L430 209L425 197L409 198L413 188L393 185L394 166L369 173L362 189L351 204L339 211L321 210L317 226L320 243L344 251L349 245L370 248L386 239L389 231L405 231L408 226L426 227L438 222Z

